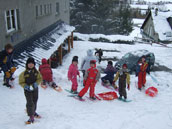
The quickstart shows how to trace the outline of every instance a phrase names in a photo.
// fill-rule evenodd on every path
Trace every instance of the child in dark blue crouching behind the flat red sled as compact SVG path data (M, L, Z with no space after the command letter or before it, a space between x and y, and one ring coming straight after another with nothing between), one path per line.
M104 73L106 75L101 78L102 83L103 84L107 84L109 82L110 85L112 85L115 72L116 72L116 70L113 67L113 62L112 61L108 61L108 65L107 65L107 67L106 67L106 69L104 71Z

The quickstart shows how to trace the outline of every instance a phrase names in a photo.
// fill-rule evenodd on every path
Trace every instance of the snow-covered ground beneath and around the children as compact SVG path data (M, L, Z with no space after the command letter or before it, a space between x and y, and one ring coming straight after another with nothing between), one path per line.
M158 45L120 45L111 43L93 43L88 41L75 41L74 49L63 61L63 66L54 69L55 81L63 89L70 89L71 83L67 80L67 71L72 57L79 56L79 66L87 49L103 48L119 50L120 52L104 52L104 56L117 56L139 49L146 49L155 53L156 62L172 68L172 53L170 48ZM106 67L107 62L102 62L101 67ZM115 62L114 62L115 63ZM0 87L0 128L1 129L171 129L172 128L172 74L169 72L154 72L158 84L147 76L146 88L155 86L159 93L155 98L145 95L135 87L137 78L131 75L131 90L128 98L130 103L114 101L86 101L80 102L67 97L69 93L57 93L51 88L39 89L37 112L42 119L35 124L25 125L28 119L25 113L25 97L23 89L18 85L18 75L23 70L19 68L16 73L15 88ZM2 85L2 74L0 84ZM78 90L83 87L79 84ZM109 91L101 86L99 81L96 93ZM88 96L88 94L86 94Z

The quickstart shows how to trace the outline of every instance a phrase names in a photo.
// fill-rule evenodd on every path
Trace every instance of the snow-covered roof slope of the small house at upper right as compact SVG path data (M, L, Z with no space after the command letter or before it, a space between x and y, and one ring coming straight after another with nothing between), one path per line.
M172 33L172 29L170 24L167 21L167 18L172 17L172 11L169 12L160 12L158 11L158 15L155 16L155 11L151 10L152 19L154 23L155 32L158 33L159 39L161 41L172 41L172 37L167 37L166 33Z

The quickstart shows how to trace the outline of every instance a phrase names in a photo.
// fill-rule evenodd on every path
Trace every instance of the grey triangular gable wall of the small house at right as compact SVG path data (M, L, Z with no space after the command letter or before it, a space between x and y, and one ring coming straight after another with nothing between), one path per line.
M143 28L143 33L146 34L146 36L143 35L143 38L146 38L148 36L148 37L158 41L159 38L158 38L158 34L155 32L152 17L149 17L147 23L145 24L145 26Z

